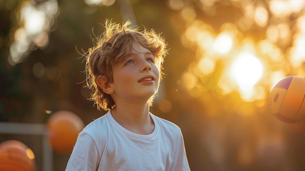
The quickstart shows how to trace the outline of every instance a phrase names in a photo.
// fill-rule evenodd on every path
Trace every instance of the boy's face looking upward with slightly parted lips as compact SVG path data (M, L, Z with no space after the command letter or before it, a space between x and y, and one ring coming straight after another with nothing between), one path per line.
M149 100L159 87L160 72L152 53L143 46L133 43L130 57L113 66L114 102L122 100Z

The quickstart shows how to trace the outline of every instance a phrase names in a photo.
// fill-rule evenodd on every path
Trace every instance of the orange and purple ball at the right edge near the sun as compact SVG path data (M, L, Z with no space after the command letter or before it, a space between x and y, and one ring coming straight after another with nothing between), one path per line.
M305 116L305 78L287 76L275 83L270 92L271 111L286 123L295 123Z

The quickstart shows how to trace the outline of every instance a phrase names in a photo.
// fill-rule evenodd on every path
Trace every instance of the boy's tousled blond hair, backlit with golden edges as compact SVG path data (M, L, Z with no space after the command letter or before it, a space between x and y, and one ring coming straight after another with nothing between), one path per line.
M86 82L87 87L92 90L89 100L95 101L98 110L100 108L105 111L111 110L115 107L115 103L112 97L104 93L96 84L95 79L97 76L105 76L107 82L112 83L112 66L124 61L130 55L133 42L152 52L155 64L160 71L160 78L163 78L162 64L169 51L165 39L153 29L144 28L143 31L140 31L139 27L130 25L130 21L116 24L107 19L104 25L105 31L96 38L96 45L86 53ZM153 95L149 100L150 106L152 106L154 97Z

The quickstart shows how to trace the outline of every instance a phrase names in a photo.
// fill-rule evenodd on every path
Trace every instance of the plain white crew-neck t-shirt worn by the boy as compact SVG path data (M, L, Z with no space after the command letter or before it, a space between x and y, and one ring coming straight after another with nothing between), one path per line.
M66 171L190 171L180 128L151 114L151 134L132 133L109 111L79 133Z

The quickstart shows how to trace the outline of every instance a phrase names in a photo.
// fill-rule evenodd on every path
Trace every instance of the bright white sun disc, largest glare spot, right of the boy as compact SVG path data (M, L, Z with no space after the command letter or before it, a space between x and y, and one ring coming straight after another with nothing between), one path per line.
M263 75L262 63L247 52L241 53L231 67L231 77L243 91L253 89L253 86Z

